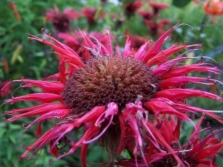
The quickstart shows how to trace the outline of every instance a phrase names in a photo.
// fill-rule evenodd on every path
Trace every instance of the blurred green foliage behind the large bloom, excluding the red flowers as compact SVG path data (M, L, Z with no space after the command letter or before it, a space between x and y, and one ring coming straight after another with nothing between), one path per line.
M57 31L52 22L46 21L46 10L53 9L55 4L61 12L67 7L72 7L79 13L81 13L82 9L86 6L97 7L97 13L94 16L96 22L94 24L89 24L86 17L81 16L71 21L72 30L84 29L88 32L104 32L106 28L109 28L111 33L117 37L126 34L134 34L155 41L159 36L159 34L155 33L157 30L151 31L151 27L148 27L148 25L143 22L143 18L138 12L126 15L125 4L128 2L132 2L132 0L107 1L107 3L102 3L100 0L0 0L0 84L4 81L19 79L21 77L41 79L58 71L58 59L53 54L53 50L39 42L30 41L27 38L28 34L41 36L42 28L45 29L45 32L51 33L52 36L56 36L55 34ZM148 1L144 0L142 2L146 5L143 5L141 10L151 11L151 8L148 6ZM162 19L169 20L170 23L164 30L167 30L177 22L185 23L185 25L180 26L173 32L171 40L168 40L164 47L168 47L175 42L180 44L201 43L203 45L201 50L193 52L192 54L195 56L208 56L222 64L222 16L207 15L202 9L202 2L204 1L201 1L199 5L190 0L154 0L154 2L165 2L169 6L167 9L160 11L157 18L152 20L155 23L158 23ZM16 5L16 9L10 8L11 3ZM20 18L18 18L17 12ZM99 16L101 13L105 13L103 18ZM123 47L123 38L117 38L116 41ZM215 62L210 59L207 59L207 62L215 64ZM220 68L222 69L222 65ZM217 76L215 79L223 81L222 75ZM14 96L18 96L27 94L28 92L38 91L37 89L17 89L18 87L19 84L13 84L11 86L11 91L7 95L0 96L0 103L2 104L5 99L10 98L10 94L12 93ZM221 85L215 85L213 87L206 86L204 88L202 87L202 89L219 95L223 92ZM188 102L207 109L223 110L223 105L221 103L201 99L191 99ZM0 114L12 108L23 108L32 105L33 104L28 102L20 102L12 106L3 105L0 108ZM47 148L43 149L33 159L23 159L17 163L19 156L25 150L25 146L35 141L35 129L31 128L24 133L22 125L30 122L30 120L21 119L7 124L4 123L4 117L4 115L0 116L1 167L11 167L13 165L17 167L80 166L80 150L75 152L72 156L65 157L50 164L49 161L53 157L48 154ZM212 122L211 119L208 121ZM218 125L215 122L212 124L213 127L222 127L222 125ZM49 127L49 124L44 124L44 128L48 129ZM192 132L192 127L189 124L185 124L183 128L184 131L182 131L181 136L182 141L185 141L188 133ZM77 136L78 134L76 134L76 138ZM89 166L99 166L95 164L95 162L106 161L107 155L102 148L92 146L87 160L90 162ZM222 157L218 158L218 164L219 166L223 166Z

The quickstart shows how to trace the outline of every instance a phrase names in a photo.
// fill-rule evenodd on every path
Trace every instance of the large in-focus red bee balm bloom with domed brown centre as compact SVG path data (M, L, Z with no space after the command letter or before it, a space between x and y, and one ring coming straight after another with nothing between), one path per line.
M191 121L187 115L190 112L204 113L222 122L213 111L191 106L185 100L191 97L223 100L218 95L185 86L188 83L212 85L219 82L211 78L187 76L192 72L218 74L220 70L217 67L204 62L184 65L185 61L195 59L185 57L184 53L170 58L182 49L193 51L200 47L199 44L173 44L162 50L163 43L178 26L169 29L155 43L145 42L137 52L132 52L128 38L123 52L120 52L118 45L113 50L109 31L105 34L107 40L104 44L80 31L85 48L91 52L86 62L50 35L43 33L44 39L31 36L31 40L51 46L60 56L60 62L59 72L44 80L22 78L13 81L23 82L23 88L39 87L43 90L43 93L12 97L5 101L8 104L20 101L40 103L6 112L11 116L6 122L38 116L25 128L38 123L36 135L41 136L27 147L21 158L30 153L35 155L46 145L50 146L50 152L56 159L71 155L80 147L81 163L86 167L88 145L98 141L107 150L111 164L117 155L127 150L135 166L139 165L139 159L140 164L149 166L149 155L145 155L145 149L155 146L157 153L162 154L165 149L179 165L185 166L150 117L156 120L170 115ZM42 134L41 123L54 118L58 119L58 123ZM84 130L77 141L66 136L78 129ZM70 150L61 154L57 143L65 140ZM163 148L159 147L161 144Z

